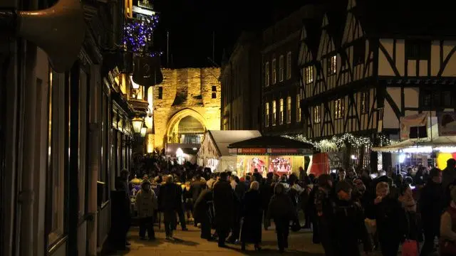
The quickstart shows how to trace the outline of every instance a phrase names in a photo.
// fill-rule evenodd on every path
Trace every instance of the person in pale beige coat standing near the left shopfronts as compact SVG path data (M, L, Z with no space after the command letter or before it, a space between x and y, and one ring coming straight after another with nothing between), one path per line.
M136 194L136 208L138 209L141 240L145 240L146 231L149 236L149 240L155 240L153 217L155 210L157 210L157 206L158 203L155 192L150 189L150 181L145 179L142 181L140 191Z

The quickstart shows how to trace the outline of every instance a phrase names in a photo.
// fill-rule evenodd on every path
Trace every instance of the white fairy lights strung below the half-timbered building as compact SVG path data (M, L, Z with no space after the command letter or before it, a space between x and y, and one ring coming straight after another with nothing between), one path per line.
M371 137L355 136L350 133L334 135L331 139L321 139L319 141L308 139L302 134L284 135L283 137L312 144L320 151L338 151L346 148L347 146L371 147L373 145L373 139ZM393 143L393 141L391 141L391 139L385 134L378 134L377 139L379 142L378 146L386 146Z

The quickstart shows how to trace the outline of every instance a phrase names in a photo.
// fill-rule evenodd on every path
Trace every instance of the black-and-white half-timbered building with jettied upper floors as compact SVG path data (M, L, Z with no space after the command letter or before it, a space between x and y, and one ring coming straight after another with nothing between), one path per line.
M383 135L398 135L400 117L424 111L436 116L455 108L456 33L442 21L448 17L442 6L330 2L319 32L310 33L316 28L306 21L301 31L306 138L318 142L352 134L375 144ZM319 38L318 47L312 36ZM376 169L378 156L369 146L344 149L351 159L346 164ZM383 168L389 165L390 156L384 154Z

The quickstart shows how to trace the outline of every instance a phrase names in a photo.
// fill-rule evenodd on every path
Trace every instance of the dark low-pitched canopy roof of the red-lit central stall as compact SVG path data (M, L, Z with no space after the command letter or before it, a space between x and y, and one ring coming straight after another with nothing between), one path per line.
M262 148L262 149L303 149L304 153L312 153L314 146L295 139L281 136L261 136L247 139L242 142L229 144L230 149Z

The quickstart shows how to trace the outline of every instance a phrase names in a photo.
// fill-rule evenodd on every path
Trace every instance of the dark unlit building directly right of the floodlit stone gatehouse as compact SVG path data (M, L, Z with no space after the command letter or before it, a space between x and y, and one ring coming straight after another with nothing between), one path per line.
M261 34L243 32L222 66L224 130L259 130L261 126Z

